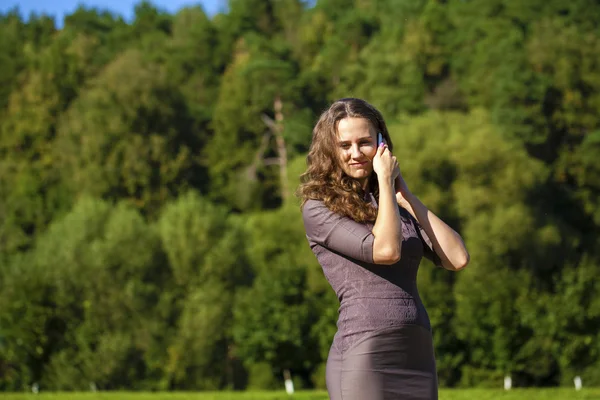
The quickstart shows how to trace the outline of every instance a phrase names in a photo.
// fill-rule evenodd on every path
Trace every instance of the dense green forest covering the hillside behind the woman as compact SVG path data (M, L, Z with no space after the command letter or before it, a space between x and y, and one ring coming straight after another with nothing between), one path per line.
M600 5L230 0L0 15L0 389L323 388L338 302L295 189L384 114L471 263L424 261L442 386L600 385Z

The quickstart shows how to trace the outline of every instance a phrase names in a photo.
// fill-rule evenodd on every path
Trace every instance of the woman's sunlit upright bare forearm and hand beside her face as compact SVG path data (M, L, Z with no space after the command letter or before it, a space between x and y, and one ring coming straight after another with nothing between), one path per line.
M391 265L400 260L402 249L402 220L394 190L394 179L400 170L396 157L387 146L377 150L373 168L379 183L379 205L373 226L373 262Z

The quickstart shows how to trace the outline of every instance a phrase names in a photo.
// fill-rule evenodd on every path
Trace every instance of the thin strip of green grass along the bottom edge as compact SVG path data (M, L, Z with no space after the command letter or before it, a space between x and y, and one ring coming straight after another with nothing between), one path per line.
M194 393L0 393L2 400L328 400L327 393L310 391L288 396L285 392ZM440 390L439 400L600 400L600 388L574 389L451 389ZM368 400L368 399L365 399Z

